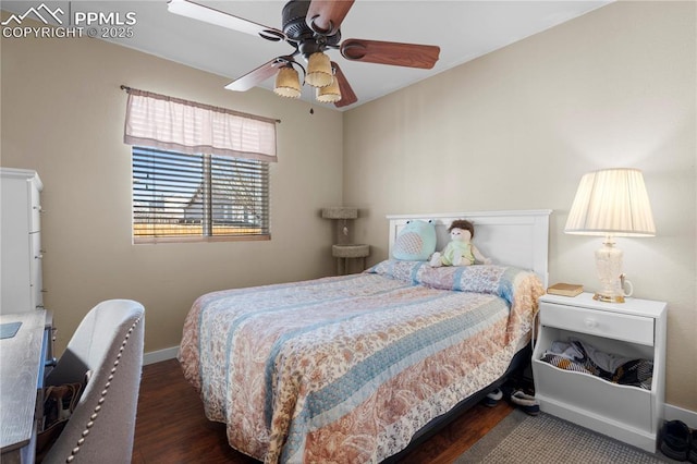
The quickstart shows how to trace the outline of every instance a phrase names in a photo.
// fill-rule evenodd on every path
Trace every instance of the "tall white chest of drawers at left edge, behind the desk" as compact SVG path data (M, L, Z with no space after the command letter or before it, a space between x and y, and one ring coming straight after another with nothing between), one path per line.
M36 171L0 168L0 314L44 308L40 192Z

